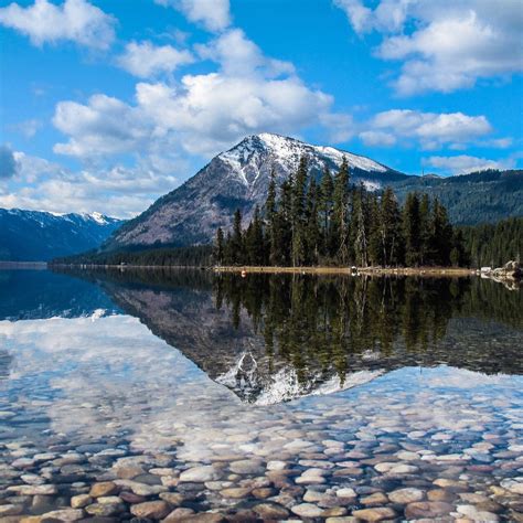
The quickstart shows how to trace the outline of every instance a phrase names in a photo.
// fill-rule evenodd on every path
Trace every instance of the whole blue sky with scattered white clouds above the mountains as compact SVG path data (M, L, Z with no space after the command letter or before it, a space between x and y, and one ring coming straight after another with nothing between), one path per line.
M130 217L245 136L523 164L521 0L0 0L0 206Z

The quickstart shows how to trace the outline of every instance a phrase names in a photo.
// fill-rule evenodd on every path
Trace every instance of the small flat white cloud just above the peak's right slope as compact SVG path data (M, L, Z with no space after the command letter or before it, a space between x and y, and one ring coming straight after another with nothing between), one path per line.
M398 138L414 139L425 149L467 143L492 131L484 116L462 113L421 113L392 109L375 115L360 138L366 145L392 146Z

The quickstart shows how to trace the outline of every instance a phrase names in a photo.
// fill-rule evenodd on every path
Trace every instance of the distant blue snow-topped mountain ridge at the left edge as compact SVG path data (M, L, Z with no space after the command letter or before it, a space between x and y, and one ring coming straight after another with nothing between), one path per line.
M93 214L0 209L0 260L46 262L98 247L124 222Z

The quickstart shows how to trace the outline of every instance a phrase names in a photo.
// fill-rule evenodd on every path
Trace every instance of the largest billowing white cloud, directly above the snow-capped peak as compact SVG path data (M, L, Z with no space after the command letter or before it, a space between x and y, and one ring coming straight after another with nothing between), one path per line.
M139 83L131 105L106 95L60 103L53 122L68 140L55 152L87 158L167 141L210 157L248 134L292 135L322 122L346 136L350 118L331 113L333 98L308 87L291 64L266 57L242 31L225 32L198 52L217 71L170 85Z

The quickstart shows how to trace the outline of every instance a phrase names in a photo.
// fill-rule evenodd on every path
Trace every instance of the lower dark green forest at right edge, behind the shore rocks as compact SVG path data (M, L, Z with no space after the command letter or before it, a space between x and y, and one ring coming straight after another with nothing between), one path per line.
M523 217L503 220L497 224L461 227L466 252L472 267L501 267L521 260L523 254Z

